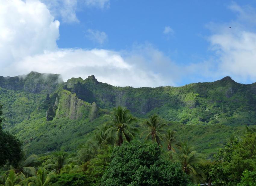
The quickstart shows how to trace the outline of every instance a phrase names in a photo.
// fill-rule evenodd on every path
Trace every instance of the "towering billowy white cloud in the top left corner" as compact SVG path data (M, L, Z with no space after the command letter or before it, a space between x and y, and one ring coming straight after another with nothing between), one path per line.
M1 69L25 56L57 49L59 22L36 0L0 0Z

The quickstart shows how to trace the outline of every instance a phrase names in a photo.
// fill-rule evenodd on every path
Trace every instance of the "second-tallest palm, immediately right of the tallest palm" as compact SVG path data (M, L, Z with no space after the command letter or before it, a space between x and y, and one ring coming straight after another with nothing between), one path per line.
M163 140L162 133L166 133L164 130L162 130L163 127L166 127L167 124L160 123L159 122L159 116L153 115L149 117L149 121L146 121L142 125L148 127L147 130L143 131L140 135L140 137L143 136L144 133L148 133L148 135L145 137L145 139L149 139L151 136L151 140L153 142L161 144L161 140Z

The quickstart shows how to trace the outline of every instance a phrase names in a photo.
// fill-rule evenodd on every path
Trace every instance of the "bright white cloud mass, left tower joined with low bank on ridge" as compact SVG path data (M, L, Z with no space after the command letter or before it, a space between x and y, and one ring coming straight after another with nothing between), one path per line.
M58 48L59 22L42 2L0 1L1 75L38 71L59 73L67 80L94 74L102 82L134 87L158 86L162 82L160 75L129 63L123 52Z

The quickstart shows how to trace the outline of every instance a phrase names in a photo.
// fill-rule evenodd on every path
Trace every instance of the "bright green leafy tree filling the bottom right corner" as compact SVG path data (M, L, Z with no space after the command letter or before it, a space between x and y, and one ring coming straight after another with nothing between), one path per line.
M245 170L256 170L256 133L249 132L240 140L233 136L231 139L214 155L216 162L211 169L211 175L216 185L236 185L242 176L250 176L248 172L243 173Z

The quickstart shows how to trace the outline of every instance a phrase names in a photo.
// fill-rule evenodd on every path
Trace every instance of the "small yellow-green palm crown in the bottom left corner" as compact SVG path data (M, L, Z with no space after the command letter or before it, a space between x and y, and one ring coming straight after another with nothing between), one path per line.
M27 185L26 176L22 173L15 173L15 170L9 170L0 177L0 186L23 186Z

